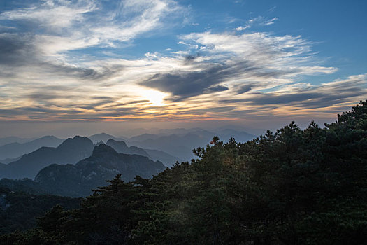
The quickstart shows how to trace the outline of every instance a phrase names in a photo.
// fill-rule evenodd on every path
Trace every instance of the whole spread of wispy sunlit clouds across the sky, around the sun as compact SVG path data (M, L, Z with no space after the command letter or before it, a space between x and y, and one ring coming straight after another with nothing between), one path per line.
M115 54L137 38L187 22L187 9L171 0L103 3L49 0L0 13L0 120L316 115L367 94L366 75L308 83L337 68L301 36L238 32L277 18L182 34L179 48L121 59Z

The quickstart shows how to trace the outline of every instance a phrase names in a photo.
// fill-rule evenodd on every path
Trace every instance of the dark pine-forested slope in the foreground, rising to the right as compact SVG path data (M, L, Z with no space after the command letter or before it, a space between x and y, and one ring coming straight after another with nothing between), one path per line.
M152 179L120 175L0 244L366 244L367 102L336 123L213 138Z

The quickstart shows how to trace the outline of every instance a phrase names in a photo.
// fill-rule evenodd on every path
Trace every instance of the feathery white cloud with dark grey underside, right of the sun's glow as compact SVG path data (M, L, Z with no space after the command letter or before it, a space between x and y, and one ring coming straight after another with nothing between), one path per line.
M257 84L258 89L266 88L293 83L292 78L296 76L336 71L333 67L310 66L310 44L298 36L206 32L181 38L192 52L200 50L201 56L186 55L185 61L189 57L192 62L186 69L159 72L140 83L172 94L168 98L171 101L199 96L221 83L236 81L236 86L239 83L243 89L236 89L236 92L242 94L252 84Z

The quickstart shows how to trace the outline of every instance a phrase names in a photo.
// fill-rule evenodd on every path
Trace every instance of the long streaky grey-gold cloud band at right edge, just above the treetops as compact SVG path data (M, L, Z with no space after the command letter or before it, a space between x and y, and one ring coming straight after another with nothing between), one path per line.
M331 106L358 102L367 94L367 75L350 76L344 80L335 80L321 85L296 84L287 85L276 92L247 93L241 99L222 99L223 104L248 104L251 106L276 106L275 109L287 107L292 111L323 109Z

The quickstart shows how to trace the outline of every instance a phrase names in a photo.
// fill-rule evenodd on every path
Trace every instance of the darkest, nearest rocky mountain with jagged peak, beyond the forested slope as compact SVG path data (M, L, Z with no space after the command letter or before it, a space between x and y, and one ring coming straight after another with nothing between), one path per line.
M150 178L166 167L142 155L117 153L111 146L99 144L89 158L75 165L50 165L42 169L34 179L55 195L82 197L91 189L106 186L107 179L122 174L121 179L132 181L135 176Z

